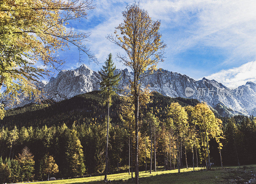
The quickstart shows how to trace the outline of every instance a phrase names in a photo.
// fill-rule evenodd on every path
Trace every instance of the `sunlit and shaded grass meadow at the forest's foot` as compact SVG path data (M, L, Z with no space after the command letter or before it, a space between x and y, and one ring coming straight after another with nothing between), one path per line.
M142 184L226 184L239 183L240 181L240 183L244 183L251 179L252 172L255 174L256 165L233 166L223 169L213 167L211 171L205 171L203 168L195 168L195 172L192 172L192 170L193 168L181 169L181 173L177 173L178 170L158 170L157 172L152 172L152 174L149 174L149 172L140 172L139 182ZM33 184L98 184L103 183L103 181L101 181L103 178L104 176L95 176L69 180L33 182ZM108 175L108 180L111 180L111 183L133 183L131 175L128 173Z

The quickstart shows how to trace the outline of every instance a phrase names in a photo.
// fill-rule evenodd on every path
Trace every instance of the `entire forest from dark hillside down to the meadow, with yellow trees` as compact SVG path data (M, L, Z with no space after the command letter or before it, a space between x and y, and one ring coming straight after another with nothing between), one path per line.
M157 93L152 98L152 103L140 109L140 170L193 165L209 169L211 163L221 165L221 157L227 165L256 163L253 116L221 118L221 122L207 105L197 100L173 99ZM0 181L103 173L106 112L100 100L97 93L89 93L44 108L34 104L10 110L2 121L8 126L0 130ZM116 96L111 106L108 173L128 171L129 155L130 172L134 172L134 115L129 104L125 108L123 100ZM56 112L48 115L48 109ZM41 114L42 111L45 113ZM32 119L26 113L31 113ZM44 116L47 121L53 118L48 122L50 125L42 125L47 124ZM17 117L23 119L19 121ZM17 118L17 122L12 125L8 118ZM26 125L27 120L30 126ZM38 122L41 126L36 127ZM22 159L30 162L23 163Z

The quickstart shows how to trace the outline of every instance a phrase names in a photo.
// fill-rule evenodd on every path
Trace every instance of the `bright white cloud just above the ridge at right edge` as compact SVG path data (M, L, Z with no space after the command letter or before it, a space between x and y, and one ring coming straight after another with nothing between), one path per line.
M240 67L221 70L205 78L214 79L229 88L236 88L248 81L256 83L256 61L245 63Z

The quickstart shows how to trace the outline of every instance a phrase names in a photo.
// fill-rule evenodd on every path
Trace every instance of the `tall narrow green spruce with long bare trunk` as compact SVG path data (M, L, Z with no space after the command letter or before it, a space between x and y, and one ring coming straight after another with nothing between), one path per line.
M99 71L101 82L100 82L100 92L107 96L108 101L108 122L107 122L107 141L106 141L106 168L105 168L105 178L107 180L107 165L108 165L108 124L109 124L109 104L111 102L111 96L117 91L117 85L120 80L120 74L114 74L116 66L112 60L112 54L108 54L108 59L105 61L105 66Z

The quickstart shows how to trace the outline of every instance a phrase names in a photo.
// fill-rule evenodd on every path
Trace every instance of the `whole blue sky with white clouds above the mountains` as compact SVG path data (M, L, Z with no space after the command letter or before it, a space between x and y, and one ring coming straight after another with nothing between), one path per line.
M79 31L91 32L86 42L104 62L109 52L123 52L106 39L123 18L121 11L133 1L95 0L88 18L71 22ZM160 32L167 44L165 61L159 68L185 74L195 80L215 79L235 88L246 81L256 82L256 1L255 0L149 0L140 1L153 20L161 20ZM63 69L78 63L75 47L60 52L66 58ZM86 58L84 58L86 59ZM101 65L84 62L97 71ZM117 68L125 68L116 62Z

